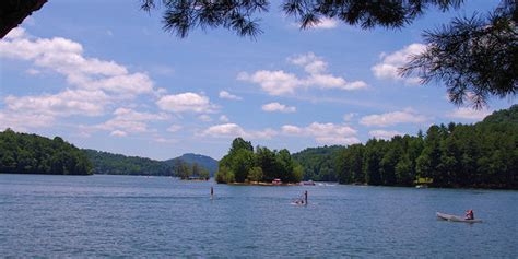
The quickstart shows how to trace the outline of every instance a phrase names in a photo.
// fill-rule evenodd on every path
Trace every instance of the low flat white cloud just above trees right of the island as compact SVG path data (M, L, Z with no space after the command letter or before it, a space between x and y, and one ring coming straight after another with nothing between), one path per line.
M309 136L320 144L354 144L360 143L356 138L356 130L345 125L313 122L306 127L284 125L281 127L282 133L286 136Z

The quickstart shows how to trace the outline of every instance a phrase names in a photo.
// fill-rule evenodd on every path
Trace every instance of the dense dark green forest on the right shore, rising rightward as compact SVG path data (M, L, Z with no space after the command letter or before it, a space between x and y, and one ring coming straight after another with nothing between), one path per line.
M309 149L294 156L305 161L305 177L335 177L341 184L413 186L416 179L428 178L435 187L516 189L517 145L518 105L514 105L475 125L434 125L426 134Z

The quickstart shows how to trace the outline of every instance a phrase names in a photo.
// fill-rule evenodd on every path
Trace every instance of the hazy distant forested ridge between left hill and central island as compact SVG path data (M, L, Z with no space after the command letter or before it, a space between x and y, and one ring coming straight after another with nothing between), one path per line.
M181 156L157 161L140 156L127 156L96 150L83 150L93 164L93 173L102 175L150 175L175 176L175 165L178 161L189 164L197 163L208 169L213 176L217 170L217 161L200 154L187 153Z

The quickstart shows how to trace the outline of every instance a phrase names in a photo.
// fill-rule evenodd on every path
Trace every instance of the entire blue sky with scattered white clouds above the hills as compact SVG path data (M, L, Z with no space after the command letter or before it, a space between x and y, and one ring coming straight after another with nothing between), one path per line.
M301 31L273 2L257 40L225 30L180 39L139 2L50 0L1 39L0 128L127 155L221 158L238 136L297 152L472 123L516 103L458 108L443 85L395 73L423 49L423 30L499 1L368 31L335 21Z

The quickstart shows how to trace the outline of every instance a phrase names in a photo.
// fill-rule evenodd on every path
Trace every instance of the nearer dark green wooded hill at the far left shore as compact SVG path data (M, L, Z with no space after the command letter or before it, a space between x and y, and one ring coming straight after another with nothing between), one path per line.
M0 172L12 174L91 175L86 154L56 137L0 132Z

